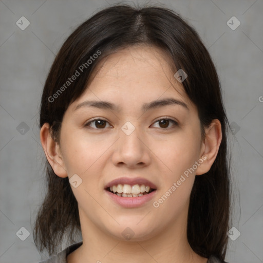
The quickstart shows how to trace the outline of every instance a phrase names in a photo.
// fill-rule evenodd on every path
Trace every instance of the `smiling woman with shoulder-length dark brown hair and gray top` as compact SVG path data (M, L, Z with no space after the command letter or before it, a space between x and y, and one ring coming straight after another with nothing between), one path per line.
M43 90L48 192L34 240L50 255L74 231L82 241L44 262L224 262L220 91L198 34L171 10L117 5L80 25Z

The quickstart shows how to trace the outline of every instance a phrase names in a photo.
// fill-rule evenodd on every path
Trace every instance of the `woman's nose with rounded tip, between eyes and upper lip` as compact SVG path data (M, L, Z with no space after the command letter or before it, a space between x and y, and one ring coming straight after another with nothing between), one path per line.
M146 137L140 128L136 127L129 135L120 129L119 136L112 155L112 162L116 166L142 168L151 163L151 149L147 146Z

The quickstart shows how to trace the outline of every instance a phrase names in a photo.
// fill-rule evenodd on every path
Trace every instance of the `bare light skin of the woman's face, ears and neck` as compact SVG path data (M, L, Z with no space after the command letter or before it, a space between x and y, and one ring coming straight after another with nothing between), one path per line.
M174 78L169 58L161 50L133 46L111 54L101 64L83 95L66 110L60 141L46 123L41 142L55 174L83 181L74 188L79 205L83 245L67 256L76 262L206 262L186 237L187 210L195 175L210 170L221 142L221 125L213 120L201 139L196 106ZM145 112L144 103L174 98L181 105L166 105ZM109 101L121 110L76 107L87 100ZM106 120L101 126L92 118ZM161 125L158 120L172 119ZM126 135L121 127L135 127ZM170 128L170 129L169 129ZM202 156L205 161L158 208L154 201L171 189L187 168ZM123 208L105 193L106 183L120 177L143 177L157 186L155 197L139 208ZM122 232L134 232L125 240ZM99 261L98 261L99 260Z

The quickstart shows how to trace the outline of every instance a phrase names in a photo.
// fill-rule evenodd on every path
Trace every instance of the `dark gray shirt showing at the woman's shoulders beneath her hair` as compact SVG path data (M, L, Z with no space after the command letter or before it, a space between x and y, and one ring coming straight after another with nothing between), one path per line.
M82 245L82 241L78 243L74 243L71 246L65 248L59 254L51 256L49 259L46 259L39 263L67 263L67 255L73 252L74 250L76 250L77 248L79 248L81 245ZM227 262L221 261L215 256L211 256L208 259L207 263L227 263Z

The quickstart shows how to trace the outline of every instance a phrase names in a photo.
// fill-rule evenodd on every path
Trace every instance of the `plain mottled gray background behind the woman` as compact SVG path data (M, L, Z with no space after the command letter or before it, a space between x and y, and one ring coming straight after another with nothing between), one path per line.
M0 1L1 263L38 262L46 257L36 251L32 238L36 211L45 194L37 128L41 91L54 54L70 32L91 14L114 3ZM232 226L241 233L235 241L229 239L226 261L263 262L263 1L158 3L176 10L197 29L220 76L235 134L230 137L235 201ZM25 30L16 25L21 16L30 22ZM227 25L232 16L241 23L235 30ZM22 227L30 233L25 241L16 236Z

